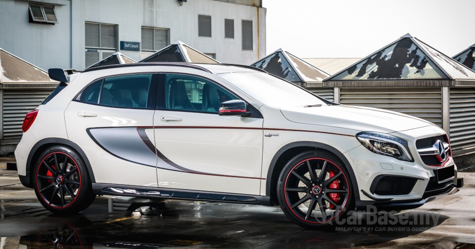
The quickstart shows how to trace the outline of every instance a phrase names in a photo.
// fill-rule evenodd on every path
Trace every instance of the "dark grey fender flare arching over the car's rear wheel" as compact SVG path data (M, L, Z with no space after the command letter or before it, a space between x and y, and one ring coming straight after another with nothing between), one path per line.
M77 144L71 142L70 140L63 139L63 138L45 138L45 139L42 139L42 140L38 141L33 146L33 148L30 150L30 153L28 154L28 158L26 160L26 165L27 165L26 175L30 175L30 165L32 163L33 155L35 154L35 152L37 152L37 150L41 146L46 145L46 144L65 145L65 146L69 146L69 147L73 148L74 150L76 150L79 153L79 155L81 156L81 158L83 159L84 163L86 164L86 167L87 167L88 172L89 172L89 177L91 177L91 182L95 183L93 168L91 167L91 163L89 162L89 159L86 156L86 153L84 153L84 151Z

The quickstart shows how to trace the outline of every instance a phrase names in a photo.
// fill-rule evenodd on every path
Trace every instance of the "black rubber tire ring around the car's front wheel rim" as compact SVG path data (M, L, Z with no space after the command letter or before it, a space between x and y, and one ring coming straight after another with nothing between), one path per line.
M354 205L353 185L351 183L348 170L346 169L344 163L337 156L335 156L332 153L329 153L326 151L320 151L320 150L305 151L294 156L285 164L281 174L279 175L279 179L277 183L277 198L279 199L279 203L281 205L282 210L284 211L285 216L287 216L287 218L290 219L295 224L307 229L315 229L322 226L334 225L334 222L333 222L334 219L327 222L322 222L322 223L312 223L312 222L304 221L300 219L299 217L297 217L295 214L293 214L293 212L290 210L290 207L287 206L287 202L285 200L285 180L297 163L304 161L306 159L315 158L315 157L323 158L336 164L341 169L343 174L346 176L346 180L348 182L349 191L348 191L347 204L344 210L342 210L334 219L345 217L347 212L351 210L352 206Z

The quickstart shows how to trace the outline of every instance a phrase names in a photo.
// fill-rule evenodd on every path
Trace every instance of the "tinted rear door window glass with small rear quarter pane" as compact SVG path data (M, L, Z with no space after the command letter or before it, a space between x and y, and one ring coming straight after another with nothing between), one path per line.
M152 74L105 78L86 88L79 100L112 107L148 108L151 80Z

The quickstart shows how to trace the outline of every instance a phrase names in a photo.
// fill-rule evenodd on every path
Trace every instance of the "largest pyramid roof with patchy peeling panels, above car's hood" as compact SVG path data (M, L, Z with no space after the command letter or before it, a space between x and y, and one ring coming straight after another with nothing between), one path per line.
M406 34L325 81L475 80L475 72Z

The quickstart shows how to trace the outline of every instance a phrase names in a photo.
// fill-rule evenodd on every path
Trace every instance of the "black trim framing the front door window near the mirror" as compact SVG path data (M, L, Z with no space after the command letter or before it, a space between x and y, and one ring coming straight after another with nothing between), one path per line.
M165 102L166 102L165 101L165 98L166 98L166 96L165 96L165 86L166 86L165 77L166 77L167 74L193 76L193 77L197 77L197 78L201 78L203 80L209 81L209 82L215 84L216 86L219 86L219 87L223 88L224 90L228 91L232 95L236 96L238 98L238 100L244 101L246 103L246 105L248 106L248 108L250 109L250 111L252 112L252 114L248 117L250 117L250 118L264 118L262 116L262 113L259 110L257 110L257 108L255 108L252 104L250 104L245 99L240 97L235 92L231 91L229 88L223 86L222 84L219 84L218 82L216 82L216 81L214 81L214 80L212 80L208 77L202 76L202 75L197 75L197 74L192 74L192 73L183 73L183 72L160 72L160 76L159 76L158 82L157 82L158 83L157 84L157 98L160 98L161 101L157 101L157 105L156 105L156 108L155 108L156 110L219 115L219 113L217 113L217 112L196 111L196 110L176 110L176 109L166 108L166 104L165 104ZM159 102L161 102L161 105L159 105Z

